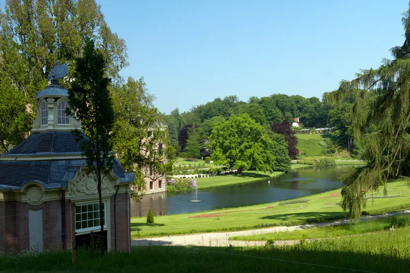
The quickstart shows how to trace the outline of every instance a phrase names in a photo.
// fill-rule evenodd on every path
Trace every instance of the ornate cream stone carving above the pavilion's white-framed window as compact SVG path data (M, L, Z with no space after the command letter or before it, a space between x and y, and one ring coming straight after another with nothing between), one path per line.
M111 185L106 179L102 180L101 191L102 193L107 193L107 192L112 191ZM82 194L85 194L85 195L98 194L97 182L94 180L93 177L90 177L85 173L79 175L75 181L70 183L70 186L69 186L70 196L78 196Z

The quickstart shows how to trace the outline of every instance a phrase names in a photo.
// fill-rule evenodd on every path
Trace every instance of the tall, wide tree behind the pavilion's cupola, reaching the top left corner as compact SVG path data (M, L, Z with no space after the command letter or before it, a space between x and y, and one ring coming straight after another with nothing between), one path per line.
M55 61L67 63L74 78L75 59L94 39L105 72L118 82L128 65L124 40L112 33L95 0L5 0L0 10L0 141L3 147L28 136L35 118L36 92L47 86ZM26 106L29 107L26 107Z

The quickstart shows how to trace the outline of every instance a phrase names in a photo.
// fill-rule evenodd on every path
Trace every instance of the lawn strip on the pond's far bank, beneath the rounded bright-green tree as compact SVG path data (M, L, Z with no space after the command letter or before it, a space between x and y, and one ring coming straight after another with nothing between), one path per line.
M292 170L310 167L302 164L292 164ZM284 172L263 173L258 171L245 171L242 175L225 175L225 176L213 176L205 177L197 180L198 188L211 188L222 187L235 184L243 184L249 182L256 182L259 180L265 180L267 178L275 178L283 175Z

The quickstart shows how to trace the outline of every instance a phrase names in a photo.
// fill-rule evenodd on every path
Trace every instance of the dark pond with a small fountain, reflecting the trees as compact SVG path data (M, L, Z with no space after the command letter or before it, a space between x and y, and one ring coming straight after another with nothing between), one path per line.
M278 178L198 190L201 202L195 199L195 190L147 194L141 202L131 201L131 216L146 216L149 209L154 215L170 215L208 211L217 208L240 207L293 199L343 186L339 176L350 166L308 168L291 171Z

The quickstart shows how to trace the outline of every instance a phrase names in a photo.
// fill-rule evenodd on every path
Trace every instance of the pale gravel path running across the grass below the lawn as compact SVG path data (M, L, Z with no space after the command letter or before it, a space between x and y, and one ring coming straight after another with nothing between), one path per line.
M383 217L391 217L395 215L410 214L410 210L391 212L385 214L378 214L373 216L364 216L360 218L360 221L373 220ZM131 240L131 246L148 246L148 245L168 245L168 246L258 246L264 245L265 241L236 241L230 240L232 236L248 236L248 235L258 235L272 232L282 232L282 231L293 231L298 229L305 229L310 227L328 227L328 226L338 226L342 224L350 223L350 220L339 220L333 222L322 222L313 224L304 224L292 227L268 227L268 228L258 228L242 231L226 231L226 232L210 232L210 233L200 233L200 234L188 234L188 235L172 235L166 237L153 237L153 238L143 238L137 240ZM281 241L280 244L294 244L299 240L288 240ZM279 241L275 242L279 244Z

